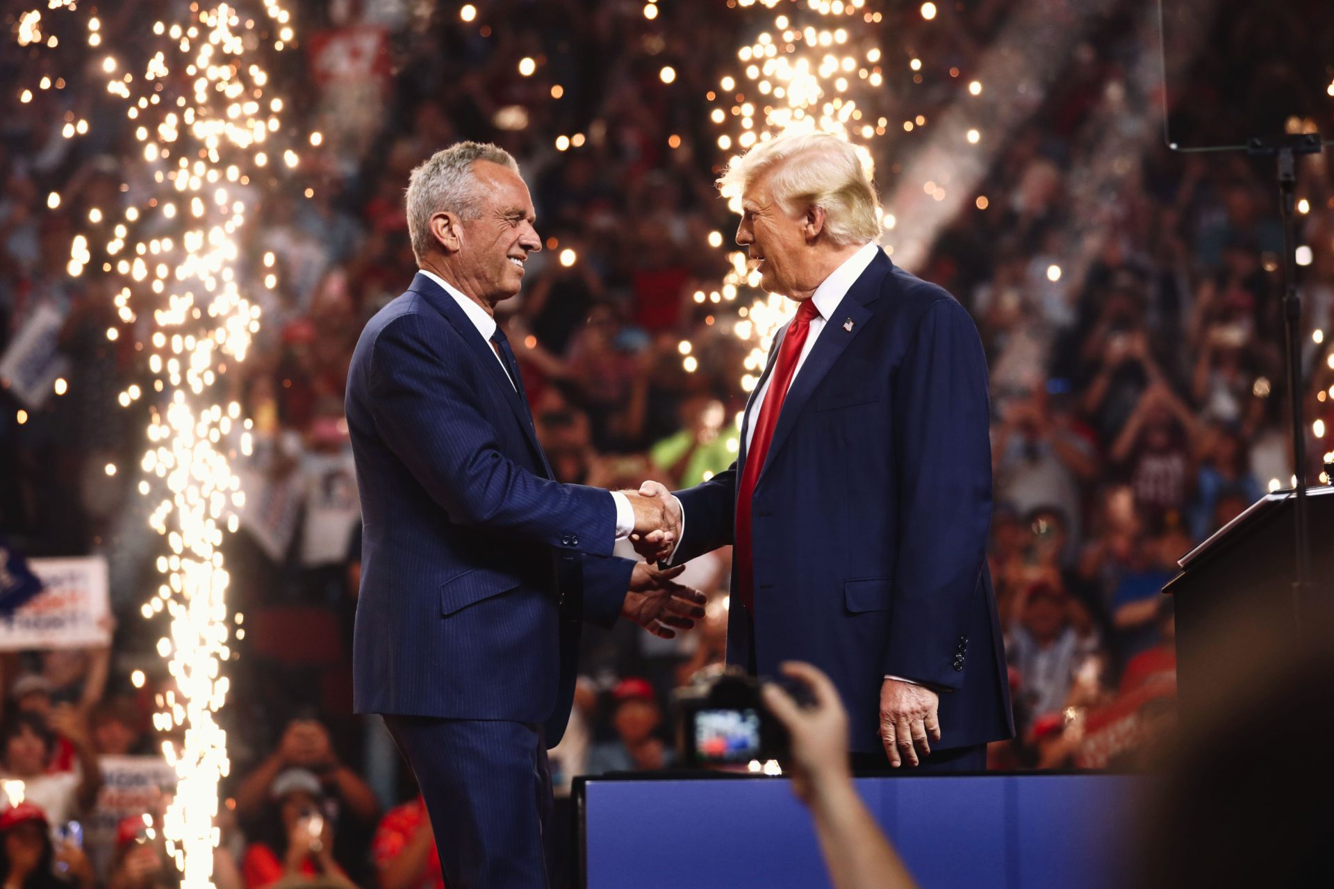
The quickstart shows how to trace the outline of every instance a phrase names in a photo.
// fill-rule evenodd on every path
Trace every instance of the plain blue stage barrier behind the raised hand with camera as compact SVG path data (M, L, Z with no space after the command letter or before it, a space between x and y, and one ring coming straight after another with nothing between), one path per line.
M1145 778L987 774L858 778L924 889L1113 889ZM587 889L828 886L786 778L588 778Z

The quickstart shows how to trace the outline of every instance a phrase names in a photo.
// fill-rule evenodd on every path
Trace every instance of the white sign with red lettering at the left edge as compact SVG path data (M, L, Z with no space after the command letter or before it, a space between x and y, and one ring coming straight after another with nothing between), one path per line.
M33 558L28 566L44 589L12 614L0 616L0 650L111 642L105 557Z

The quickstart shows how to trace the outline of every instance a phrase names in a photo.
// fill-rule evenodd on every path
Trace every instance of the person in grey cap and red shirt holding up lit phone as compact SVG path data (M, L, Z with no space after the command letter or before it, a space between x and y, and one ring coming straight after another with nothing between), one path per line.
M269 796L268 836L249 845L241 865L247 889L299 877L355 889L334 861L334 825L324 817L320 780L307 769L287 769L273 780Z

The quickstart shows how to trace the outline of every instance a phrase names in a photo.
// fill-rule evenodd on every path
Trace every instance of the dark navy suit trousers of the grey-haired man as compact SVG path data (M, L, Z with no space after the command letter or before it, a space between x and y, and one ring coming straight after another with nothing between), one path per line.
M551 773L540 724L386 716L450 889L544 889Z

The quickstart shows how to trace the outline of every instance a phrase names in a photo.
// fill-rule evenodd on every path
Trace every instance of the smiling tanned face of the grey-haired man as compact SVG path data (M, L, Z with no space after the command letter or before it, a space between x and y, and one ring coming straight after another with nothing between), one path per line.
M542 240L534 228L532 197L519 173L487 160L476 161L472 173L482 195L479 215L436 213L431 228L442 227L438 237L447 247L448 277L490 311L523 287L524 263L542 249Z

